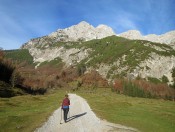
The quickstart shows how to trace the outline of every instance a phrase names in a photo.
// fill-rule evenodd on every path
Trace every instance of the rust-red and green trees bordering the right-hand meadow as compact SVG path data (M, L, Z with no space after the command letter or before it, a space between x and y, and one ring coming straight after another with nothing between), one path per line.
M145 80L116 80L113 84L113 91L133 97L163 98L173 100L175 89L167 84L154 84Z

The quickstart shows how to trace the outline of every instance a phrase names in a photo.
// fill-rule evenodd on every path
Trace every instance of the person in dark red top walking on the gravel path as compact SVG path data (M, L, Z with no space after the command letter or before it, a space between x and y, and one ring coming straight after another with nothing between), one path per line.
M64 111L64 122L67 122L67 114L69 112L69 105L70 105L70 100L68 98L68 95L66 94L62 102L62 109Z

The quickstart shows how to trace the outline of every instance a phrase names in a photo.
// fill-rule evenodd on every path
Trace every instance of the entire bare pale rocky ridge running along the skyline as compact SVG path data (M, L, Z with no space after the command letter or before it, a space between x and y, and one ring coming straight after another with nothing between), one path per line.
M82 21L77 25L72 25L65 29L58 29L43 37L31 39L23 44L21 48L29 48L29 45L35 44L52 44L59 41L89 41L93 39L102 39L112 35L131 40L147 40L156 43L165 43L175 49L175 30L161 35L148 34L144 36L138 30L128 30L116 34L113 29L107 25L100 24L97 27L93 27L86 21Z

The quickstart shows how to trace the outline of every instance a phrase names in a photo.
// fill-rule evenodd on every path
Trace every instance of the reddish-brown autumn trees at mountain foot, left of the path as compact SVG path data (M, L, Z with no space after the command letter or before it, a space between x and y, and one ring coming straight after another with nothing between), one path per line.
M37 69L26 67L20 69L20 73L24 78L23 87L35 91L68 87L68 82L73 81L77 77L76 69L72 67L64 70L49 66Z

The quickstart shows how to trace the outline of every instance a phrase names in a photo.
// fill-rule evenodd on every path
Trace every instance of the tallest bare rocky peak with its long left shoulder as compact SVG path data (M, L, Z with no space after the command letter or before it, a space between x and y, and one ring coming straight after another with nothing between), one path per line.
M32 48L34 45L53 44L59 41L88 41L112 35L115 35L115 32L106 25L99 25L95 28L89 23L82 21L77 25L58 29L47 36L31 39L22 48Z

